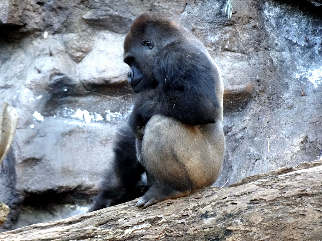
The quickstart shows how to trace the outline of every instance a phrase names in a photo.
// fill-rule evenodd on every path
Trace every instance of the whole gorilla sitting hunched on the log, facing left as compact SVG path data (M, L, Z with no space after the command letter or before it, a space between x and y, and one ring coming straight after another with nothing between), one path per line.
M89 211L142 195L137 207L189 195L212 185L223 163L223 81L201 42L143 14L124 40L124 62L134 108Z

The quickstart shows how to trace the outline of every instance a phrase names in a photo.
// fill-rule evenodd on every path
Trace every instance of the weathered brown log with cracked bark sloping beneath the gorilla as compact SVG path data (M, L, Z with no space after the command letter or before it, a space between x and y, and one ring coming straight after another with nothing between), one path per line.
M0 234L3 241L322 240L322 161L209 187L147 209L136 201Z

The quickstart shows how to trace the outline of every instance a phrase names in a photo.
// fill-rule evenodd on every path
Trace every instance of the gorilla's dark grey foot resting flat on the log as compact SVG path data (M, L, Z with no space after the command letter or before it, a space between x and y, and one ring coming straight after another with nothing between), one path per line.
M188 191L178 191L172 188L159 188L158 186L152 186L137 202L137 207L147 208L154 203L166 200L166 199L174 199L188 196L191 193L191 190Z

